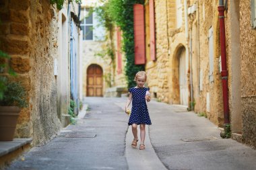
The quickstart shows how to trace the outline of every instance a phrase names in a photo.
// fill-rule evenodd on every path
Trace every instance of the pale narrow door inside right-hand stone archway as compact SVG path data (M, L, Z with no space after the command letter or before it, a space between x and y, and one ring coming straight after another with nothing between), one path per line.
M177 53L179 58L179 93L180 104L188 105L189 102L189 89L187 86L187 69L186 69L186 50L185 47L181 47Z

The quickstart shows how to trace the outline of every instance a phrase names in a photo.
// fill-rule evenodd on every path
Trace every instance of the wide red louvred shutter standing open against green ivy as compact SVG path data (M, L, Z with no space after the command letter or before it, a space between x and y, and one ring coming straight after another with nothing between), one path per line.
M143 65L146 63L146 54L144 7L141 4L133 5L133 24L135 65Z

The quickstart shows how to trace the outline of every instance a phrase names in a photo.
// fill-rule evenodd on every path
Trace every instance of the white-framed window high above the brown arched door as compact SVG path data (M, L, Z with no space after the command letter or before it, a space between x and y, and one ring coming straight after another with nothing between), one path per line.
M93 13L90 8L84 8L84 18L80 24L83 30L83 40L93 40Z

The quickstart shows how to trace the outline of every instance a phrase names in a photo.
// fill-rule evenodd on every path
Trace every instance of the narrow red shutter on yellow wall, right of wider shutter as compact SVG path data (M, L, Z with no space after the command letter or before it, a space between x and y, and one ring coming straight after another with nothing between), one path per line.
M155 10L154 0L150 0L150 57L156 60Z

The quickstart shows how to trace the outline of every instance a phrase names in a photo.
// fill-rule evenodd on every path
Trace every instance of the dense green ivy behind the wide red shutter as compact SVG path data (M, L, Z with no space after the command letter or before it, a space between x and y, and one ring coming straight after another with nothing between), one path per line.
M138 71L144 71L144 65L134 64L134 33L133 33L133 4L143 4L143 0L109 0L106 13L109 18L121 28L123 32L123 51L126 56L125 75L128 87L134 87L133 81Z

